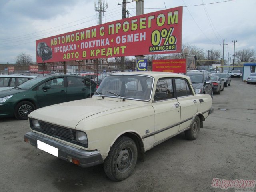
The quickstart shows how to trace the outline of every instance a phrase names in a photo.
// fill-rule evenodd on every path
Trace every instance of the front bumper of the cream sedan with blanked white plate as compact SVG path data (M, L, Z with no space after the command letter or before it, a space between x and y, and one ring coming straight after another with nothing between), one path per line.
M86 151L79 149L57 140L53 140L46 136L37 134L35 132L28 132L24 135L24 141L30 143L32 146L38 148L38 141L49 145L50 148L54 148L57 151L58 158L73 162L81 167L91 167L94 165L102 164L103 158L99 151ZM44 150L44 149L42 149ZM49 152L48 150L44 150ZM49 152L50 153L50 152Z

